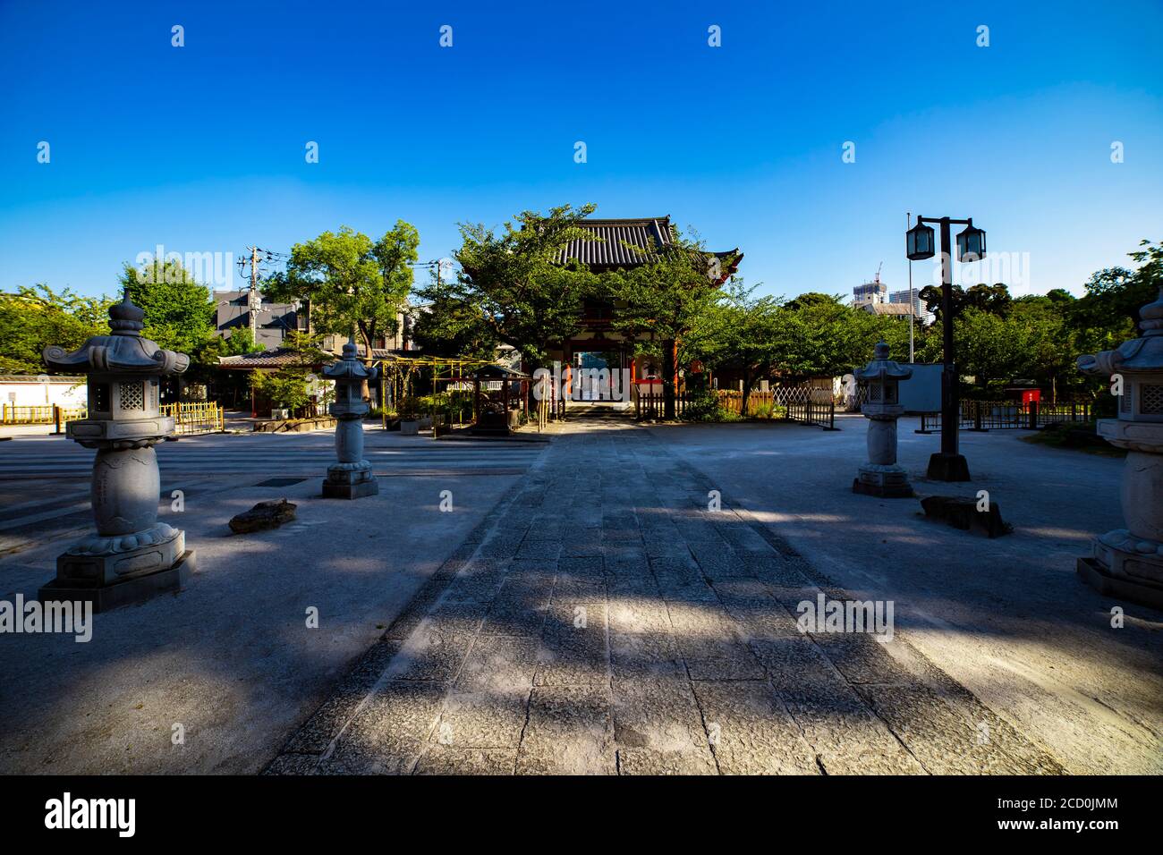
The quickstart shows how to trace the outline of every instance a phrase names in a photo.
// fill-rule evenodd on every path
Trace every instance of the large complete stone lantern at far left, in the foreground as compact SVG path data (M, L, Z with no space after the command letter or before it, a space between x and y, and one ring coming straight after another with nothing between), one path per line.
M190 366L190 357L142 339L145 313L129 301L109 307L109 335L78 350L44 349L55 371L88 375L88 414L66 433L97 449L92 505L97 534L57 558L57 578L41 601L90 600L102 612L181 587L194 569L185 533L157 521L162 487L154 446L173 433L173 419L158 409L165 375Z

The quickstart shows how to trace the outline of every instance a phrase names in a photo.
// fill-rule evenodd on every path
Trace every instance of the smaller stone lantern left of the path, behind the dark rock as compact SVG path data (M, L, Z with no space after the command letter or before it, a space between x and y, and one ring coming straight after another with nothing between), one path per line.
M335 456L338 461L327 468L324 498L358 499L379 492L371 464L363 458L363 418L368 414L363 384L364 380L374 380L377 373L376 368L359 362L354 342L343 345L343 358L323 369L323 376L335 380L335 402L330 412L338 420L335 427Z

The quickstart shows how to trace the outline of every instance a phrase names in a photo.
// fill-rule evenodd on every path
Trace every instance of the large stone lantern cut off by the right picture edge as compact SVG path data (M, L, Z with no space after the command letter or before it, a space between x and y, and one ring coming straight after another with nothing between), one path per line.
M1078 357L1084 373L1121 378L1119 418L1099 421L1098 433L1127 450L1127 527L1096 537L1092 557L1079 558L1077 570L1101 593L1163 608L1163 288L1139 316L1141 339Z

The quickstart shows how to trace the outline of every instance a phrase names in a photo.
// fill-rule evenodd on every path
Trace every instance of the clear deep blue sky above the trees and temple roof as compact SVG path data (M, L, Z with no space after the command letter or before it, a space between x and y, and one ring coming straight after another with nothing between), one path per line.
M397 219L444 257L459 221L593 201L740 247L777 294L882 262L904 287L906 211L972 216L1020 292L1080 293L1163 238L1161 36L1134 0L0 0L0 290Z

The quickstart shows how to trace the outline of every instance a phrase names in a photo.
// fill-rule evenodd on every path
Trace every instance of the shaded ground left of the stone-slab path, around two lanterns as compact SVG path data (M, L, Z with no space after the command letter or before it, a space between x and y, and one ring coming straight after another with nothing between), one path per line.
M185 529L198 572L181 593L95 615L87 643L0 635L0 772L261 770L542 448L369 430L380 493L343 501L319 498L333 432L163 443L160 519ZM60 437L3 443L0 599L35 598L91 526L92 455ZM259 485L272 476L305 480ZM230 534L230 516L281 497L295 521Z

